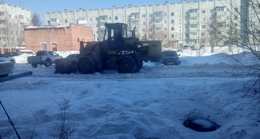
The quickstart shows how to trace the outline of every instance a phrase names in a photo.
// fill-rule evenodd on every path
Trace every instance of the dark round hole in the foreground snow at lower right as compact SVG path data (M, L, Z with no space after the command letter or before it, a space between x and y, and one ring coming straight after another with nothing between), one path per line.
M215 124L214 122L211 122L210 120L206 119L193 119L193 120L185 120L183 125L186 128L190 128L192 130L195 130L197 132L210 132L215 131L218 128L220 128L219 125Z

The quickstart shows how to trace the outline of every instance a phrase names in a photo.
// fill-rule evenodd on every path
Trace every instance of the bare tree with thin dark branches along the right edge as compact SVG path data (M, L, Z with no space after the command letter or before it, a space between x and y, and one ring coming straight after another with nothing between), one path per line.
M218 39L223 40L228 46L237 46L243 50L242 53L230 56L241 65L234 68L243 69L243 74L236 76L252 77L243 82L244 88L239 90L239 95L252 98L252 104L257 105L260 103L260 1L241 0L235 3L230 0L228 4L231 11L228 11L230 18L226 23L230 26L225 34L218 36ZM250 53L245 57L247 52ZM252 56L249 57L250 54ZM242 63L242 58L247 59L248 63Z

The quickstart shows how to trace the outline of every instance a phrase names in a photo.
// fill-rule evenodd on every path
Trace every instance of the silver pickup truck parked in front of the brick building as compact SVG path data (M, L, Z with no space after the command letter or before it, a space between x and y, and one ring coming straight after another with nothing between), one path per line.
M39 65L45 65L49 67L52 63L55 63L56 59L63 58L59 54L53 51L38 51L33 56L27 57L28 64L32 64L34 68Z

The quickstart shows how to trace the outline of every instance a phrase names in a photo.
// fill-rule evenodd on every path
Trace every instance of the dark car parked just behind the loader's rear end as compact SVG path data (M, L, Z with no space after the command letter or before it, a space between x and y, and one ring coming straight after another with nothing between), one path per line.
M164 59L162 61L163 65L180 65L180 54L178 55L176 51L163 51Z

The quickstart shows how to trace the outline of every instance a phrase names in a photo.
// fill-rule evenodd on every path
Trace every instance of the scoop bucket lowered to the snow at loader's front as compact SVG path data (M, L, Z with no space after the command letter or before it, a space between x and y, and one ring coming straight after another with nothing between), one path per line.
M56 59L54 73L71 74L72 72L76 71L77 59L77 57Z

